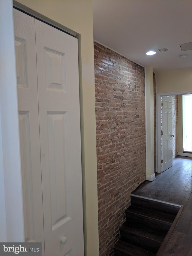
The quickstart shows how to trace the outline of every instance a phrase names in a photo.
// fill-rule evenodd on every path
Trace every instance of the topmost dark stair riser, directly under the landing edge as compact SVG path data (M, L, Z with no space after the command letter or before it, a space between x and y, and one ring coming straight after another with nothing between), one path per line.
M155 202L155 201L142 200L140 198L135 198L135 197L131 197L131 205L143 207L143 208L154 210L154 211L164 212L174 216L177 215L180 209L179 207L176 207L176 206L170 206L170 205L166 205L166 204Z

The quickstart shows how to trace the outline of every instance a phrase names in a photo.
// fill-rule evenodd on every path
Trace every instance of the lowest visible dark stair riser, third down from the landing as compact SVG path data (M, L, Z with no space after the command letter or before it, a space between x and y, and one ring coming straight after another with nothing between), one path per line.
M145 236L140 236L139 234L126 232L124 230L120 230L120 234L122 240L140 245L142 248L145 248L147 250L157 252L159 247L161 246L161 242L154 241Z

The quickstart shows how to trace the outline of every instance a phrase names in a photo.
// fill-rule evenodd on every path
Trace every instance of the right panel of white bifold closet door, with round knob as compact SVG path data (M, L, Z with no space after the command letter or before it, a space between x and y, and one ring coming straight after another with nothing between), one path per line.
M82 256L77 39L35 20L46 256Z

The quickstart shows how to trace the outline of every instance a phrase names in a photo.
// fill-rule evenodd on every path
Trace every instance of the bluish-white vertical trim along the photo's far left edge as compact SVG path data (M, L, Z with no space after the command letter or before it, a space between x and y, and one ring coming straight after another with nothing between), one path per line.
M1 1L0 20L0 241L24 242L12 0Z

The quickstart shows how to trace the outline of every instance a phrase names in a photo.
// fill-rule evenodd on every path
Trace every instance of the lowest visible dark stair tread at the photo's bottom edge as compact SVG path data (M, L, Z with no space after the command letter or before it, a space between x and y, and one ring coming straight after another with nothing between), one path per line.
M132 256L145 256L145 255L154 256L156 254L152 251L148 251L148 250L143 249L137 245L133 245L131 243L124 242L122 240L119 240L113 248L115 250L122 251L124 253L122 255L127 254L129 256L130 255L132 255Z

